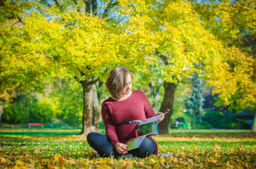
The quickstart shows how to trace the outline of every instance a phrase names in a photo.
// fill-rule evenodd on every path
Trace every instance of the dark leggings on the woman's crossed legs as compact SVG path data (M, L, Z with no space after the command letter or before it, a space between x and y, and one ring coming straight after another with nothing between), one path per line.
M95 149L95 151L98 152L98 154L100 154L101 157L108 157L112 153L115 158L120 158L122 156L122 154L118 154L115 147L113 147L112 144L107 141L107 137L104 134L90 132L87 135L87 142L93 149ZM154 151L155 143L153 142L153 139L145 137L139 148L128 151L128 154L132 154L132 156L139 158L144 158L154 154Z

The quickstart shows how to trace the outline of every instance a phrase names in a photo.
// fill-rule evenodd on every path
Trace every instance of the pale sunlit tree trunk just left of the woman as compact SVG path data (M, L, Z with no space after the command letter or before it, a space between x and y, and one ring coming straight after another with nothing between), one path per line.
M79 134L86 136L89 132L100 132L100 112L95 80L83 80L80 83L83 86L83 127Z

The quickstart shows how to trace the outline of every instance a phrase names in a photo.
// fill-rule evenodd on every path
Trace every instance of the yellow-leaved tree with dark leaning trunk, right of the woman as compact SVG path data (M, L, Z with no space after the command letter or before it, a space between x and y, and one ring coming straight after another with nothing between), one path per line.
M228 99L236 91L237 82L243 81L243 88L250 87L247 81L240 78L250 77L252 64L243 52L234 47L228 48L221 44L208 28L202 24L199 15L195 13L190 3L184 1L120 1L121 12L127 16L127 30L139 32L146 37L144 44L151 46L149 53L157 54L165 65L162 74L165 78L165 96L160 111L169 112L159 125L160 133L167 134L170 115L173 110L175 89L183 77L196 70L193 63L202 62L204 79L210 85L215 85L215 92L222 99ZM148 55L153 56L153 55ZM234 57L240 57L245 64L238 70L232 69L228 62ZM235 77L233 87L228 87L226 80ZM250 82L250 81L249 81ZM226 84L225 87L223 85ZM220 92L221 91L221 92ZM251 95L250 95L251 96Z

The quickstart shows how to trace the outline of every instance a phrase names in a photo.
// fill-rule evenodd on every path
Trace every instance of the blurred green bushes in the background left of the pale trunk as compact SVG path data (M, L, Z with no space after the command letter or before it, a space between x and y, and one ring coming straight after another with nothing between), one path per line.
M6 123L52 123L63 120L71 126L80 126L83 115L83 89L75 80L57 80L42 94L36 91L18 96L4 108ZM57 119L56 119L57 118ZM57 126L60 126L56 124Z

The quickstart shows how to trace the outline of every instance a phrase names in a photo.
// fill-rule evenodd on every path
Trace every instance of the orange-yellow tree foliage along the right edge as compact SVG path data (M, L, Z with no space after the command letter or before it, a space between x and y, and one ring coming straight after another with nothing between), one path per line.
M191 0L191 2L204 25L216 35L216 38L221 40L224 46L231 47L233 53L233 57L227 58L227 63L231 68L229 73L232 74L232 79L237 79L231 80L236 81L236 89L232 95L228 96L228 101L225 99L226 97L220 97L219 103L229 104L229 110L236 110L237 113L244 108L256 112L255 1ZM241 73L236 72L241 69L247 70L244 77ZM241 76L238 77L238 75ZM245 78L245 83L241 82L239 78ZM222 90L216 89L215 92L225 93L224 89L226 87L223 87ZM254 118L255 123L256 118ZM255 125L252 125L252 128L253 126ZM256 131L256 128L254 130Z

